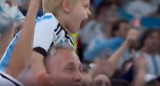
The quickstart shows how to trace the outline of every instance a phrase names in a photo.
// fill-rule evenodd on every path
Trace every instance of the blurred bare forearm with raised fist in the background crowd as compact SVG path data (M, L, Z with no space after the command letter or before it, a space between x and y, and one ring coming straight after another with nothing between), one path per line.
M131 29L126 37L125 42L121 45L121 47L107 60L107 74L109 77L111 77L115 70L118 67L118 64L120 60L122 59L125 51L128 49L128 47L134 43L136 40L138 40L140 35L140 31Z

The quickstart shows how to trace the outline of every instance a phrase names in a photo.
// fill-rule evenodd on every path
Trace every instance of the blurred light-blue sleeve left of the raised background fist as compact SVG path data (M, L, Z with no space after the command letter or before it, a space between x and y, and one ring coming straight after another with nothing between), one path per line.
M123 42L123 38L112 38L110 40L105 40L103 43L95 44L91 49L87 49L84 52L84 58L87 61L93 61L104 50L113 50L113 48L116 49L120 47L123 44Z

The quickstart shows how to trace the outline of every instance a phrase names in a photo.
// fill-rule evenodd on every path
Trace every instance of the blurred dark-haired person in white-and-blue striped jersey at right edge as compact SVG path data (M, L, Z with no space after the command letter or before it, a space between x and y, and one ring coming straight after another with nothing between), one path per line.
M141 52L144 52L144 57L147 60L147 74L153 74L156 77L160 74L160 55L158 54L159 47L159 30L147 30L141 39L140 51L137 52L138 56Z

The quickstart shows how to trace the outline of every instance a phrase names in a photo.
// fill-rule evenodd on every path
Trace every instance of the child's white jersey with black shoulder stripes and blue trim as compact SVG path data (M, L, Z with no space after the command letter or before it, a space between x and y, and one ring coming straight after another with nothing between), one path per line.
M33 49L46 56L52 46L75 49L68 32L52 13L46 13L37 20Z

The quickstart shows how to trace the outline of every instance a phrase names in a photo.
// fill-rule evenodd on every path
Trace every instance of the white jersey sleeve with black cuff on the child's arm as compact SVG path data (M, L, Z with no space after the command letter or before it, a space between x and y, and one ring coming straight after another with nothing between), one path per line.
M33 50L42 54L44 57L53 41L57 39L55 29L58 28L57 21L51 21L51 19L37 20L34 34Z

